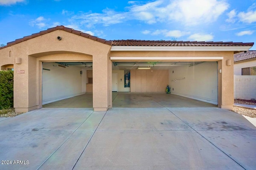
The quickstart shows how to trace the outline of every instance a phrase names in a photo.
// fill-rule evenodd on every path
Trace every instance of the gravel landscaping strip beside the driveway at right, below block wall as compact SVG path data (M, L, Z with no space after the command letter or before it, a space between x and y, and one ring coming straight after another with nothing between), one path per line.
M256 100L235 99L234 103L240 103L240 104L244 104L244 105L255 105L256 106ZM255 109L247 109L247 108L233 106L232 111L236 112L236 113L239 113L240 115L256 118L256 110Z

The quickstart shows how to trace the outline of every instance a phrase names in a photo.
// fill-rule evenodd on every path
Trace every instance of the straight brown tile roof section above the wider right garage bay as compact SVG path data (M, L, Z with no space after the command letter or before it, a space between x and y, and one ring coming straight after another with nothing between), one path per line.
M190 42L190 41L151 41L151 40L112 40L113 46L252 46L242 42Z

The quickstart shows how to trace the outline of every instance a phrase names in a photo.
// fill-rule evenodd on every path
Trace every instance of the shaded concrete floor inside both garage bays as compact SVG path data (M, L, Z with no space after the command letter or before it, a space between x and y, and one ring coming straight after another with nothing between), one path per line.
M113 107L217 107L210 103L166 93L112 93ZM43 108L92 108L92 93L43 105Z

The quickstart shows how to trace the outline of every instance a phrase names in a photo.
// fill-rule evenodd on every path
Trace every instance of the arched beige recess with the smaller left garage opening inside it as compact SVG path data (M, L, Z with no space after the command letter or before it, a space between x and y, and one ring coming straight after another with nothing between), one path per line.
M30 55L30 59L38 64L39 108L93 107L92 55L48 51Z

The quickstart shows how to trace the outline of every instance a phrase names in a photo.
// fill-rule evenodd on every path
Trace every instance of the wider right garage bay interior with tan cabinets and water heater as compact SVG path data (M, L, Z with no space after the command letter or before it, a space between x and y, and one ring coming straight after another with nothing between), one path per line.
M146 103L145 107L217 107L218 105L218 62L216 61L118 61L113 62L112 68L112 73L118 73L118 92L120 92L113 93L113 107L122 107L126 102L140 107L143 101L144 104ZM126 87L126 74L129 75L129 87ZM167 85L170 87L170 95L165 93ZM122 92L130 92L130 94ZM147 99L149 101L146 101ZM124 103L120 103L122 100Z

